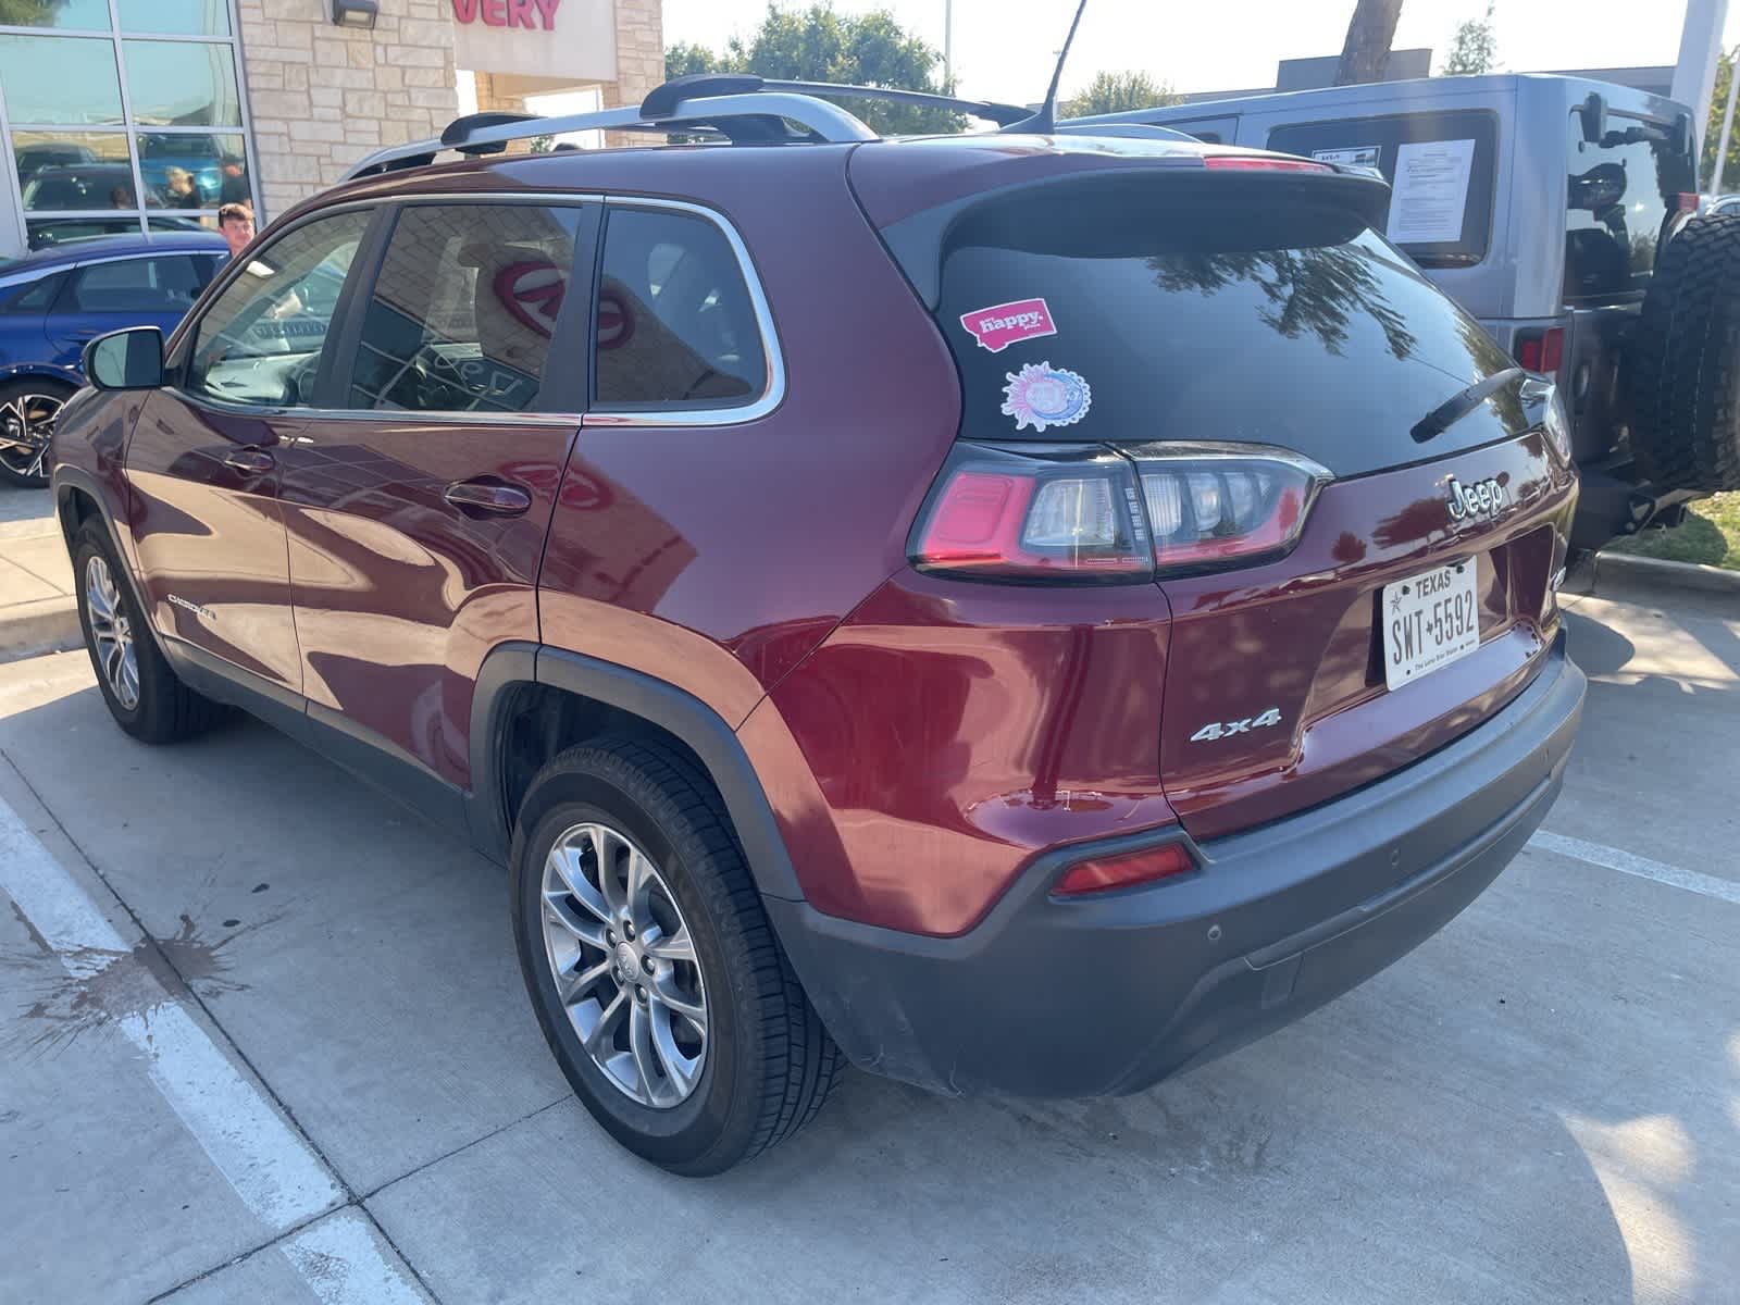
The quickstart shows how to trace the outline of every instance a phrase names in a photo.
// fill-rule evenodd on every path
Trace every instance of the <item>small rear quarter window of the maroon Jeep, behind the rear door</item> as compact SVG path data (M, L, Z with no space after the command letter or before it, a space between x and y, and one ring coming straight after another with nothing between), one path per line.
M708 219L611 209L593 376L599 407L734 407L767 386L743 268Z

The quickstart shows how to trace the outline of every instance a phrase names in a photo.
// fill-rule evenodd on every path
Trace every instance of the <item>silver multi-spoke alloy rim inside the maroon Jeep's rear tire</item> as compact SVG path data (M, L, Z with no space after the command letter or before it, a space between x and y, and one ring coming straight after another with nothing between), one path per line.
M545 954L574 1034L633 1101L680 1105L706 1063L706 988L677 898L628 835L564 830L545 860Z

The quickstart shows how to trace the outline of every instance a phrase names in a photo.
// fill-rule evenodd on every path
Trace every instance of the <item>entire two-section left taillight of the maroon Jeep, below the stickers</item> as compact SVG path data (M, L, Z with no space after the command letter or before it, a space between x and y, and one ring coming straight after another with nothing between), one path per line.
M920 571L1138 583L1288 552L1329 473L1248 444L957 444L914 529Z

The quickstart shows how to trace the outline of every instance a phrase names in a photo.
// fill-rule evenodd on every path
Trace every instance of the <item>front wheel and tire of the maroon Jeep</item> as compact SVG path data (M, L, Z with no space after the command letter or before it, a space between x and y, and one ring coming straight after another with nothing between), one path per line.
M115 724L141 743L176 743L226 713L171 670L120 569L108 532L85 522L73 534L73 586L85 651Z

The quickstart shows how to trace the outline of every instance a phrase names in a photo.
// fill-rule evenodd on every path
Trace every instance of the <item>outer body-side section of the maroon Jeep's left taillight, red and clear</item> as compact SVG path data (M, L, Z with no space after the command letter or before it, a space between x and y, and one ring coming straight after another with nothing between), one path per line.
M1081 444L957 444L914 531L912 564L995 579L1154 572L1129 463Z

